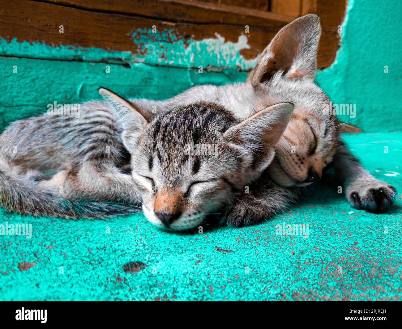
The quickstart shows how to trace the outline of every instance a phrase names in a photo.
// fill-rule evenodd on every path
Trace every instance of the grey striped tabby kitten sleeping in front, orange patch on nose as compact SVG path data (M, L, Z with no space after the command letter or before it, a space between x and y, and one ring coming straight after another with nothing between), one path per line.
M2 133L1 206L97 218L132 212L142 201L154 225L189 229L260 177L293 110L275 104L240 121L222 106L199 103L152 119L111 91L100 93L109 104L86 103L80 118L42 114ZM122 170L127 153L130 174Z

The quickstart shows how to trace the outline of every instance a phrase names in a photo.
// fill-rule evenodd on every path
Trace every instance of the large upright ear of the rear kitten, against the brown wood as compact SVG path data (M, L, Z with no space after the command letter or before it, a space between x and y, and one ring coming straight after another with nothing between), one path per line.
M271 80L283 70L287 79L314 80L320 41L320 18L314 14L301 16L283 27L258 58L247 82L256 86Z

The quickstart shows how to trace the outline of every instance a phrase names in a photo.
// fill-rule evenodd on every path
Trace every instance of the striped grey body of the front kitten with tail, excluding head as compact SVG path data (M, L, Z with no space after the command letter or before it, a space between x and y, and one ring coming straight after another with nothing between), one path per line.
M42 114L12 123L0 135L0 204L67 218L140 210L139 194L124 172L129 153L121 133L107 102L83 104L80 117Z

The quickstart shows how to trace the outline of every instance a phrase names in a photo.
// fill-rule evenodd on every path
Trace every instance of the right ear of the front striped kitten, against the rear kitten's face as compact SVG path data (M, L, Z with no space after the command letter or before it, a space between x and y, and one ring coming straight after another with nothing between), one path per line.
M293 104L279 103L254 113L223 135L262 172L273 160L278 143L293 112Z

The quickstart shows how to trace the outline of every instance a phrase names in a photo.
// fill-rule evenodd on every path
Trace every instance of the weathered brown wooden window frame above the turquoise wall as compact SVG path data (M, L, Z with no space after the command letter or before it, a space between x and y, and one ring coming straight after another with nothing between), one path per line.
M322 17L323 35L318 56L318 66L328 67L335 58L337 32L344 9L340 5L322 1L302 0L302 14L317 12ZM294 17L266 11L265 1L253 1L240 7L213 1L189 0L14 0L0 2L0 37L11 41L44 42L50 46L95 47L107 51L123 51L146 55L144 43L155 42L155 35L148 31L153 26L166 33L166 43L190 40L202 41L220 35L225 42L236 43L239 36L247 37L249 49L240 50L245 59L255 58L277 31ZM233 3L233 2L231 2ZM334 13L333 10L337 12ZM263 8L257 10L255 8ZM295 14L295 12L293 13ZM59 33L59 26L64 33ZM245 33L245 25L250 28ZM141 41L137 41L140 38ZM142 44L141 44L142 43ZM9 54L8 55L12 55ZM40 57L40 54L32 55ZM72 59L92 60L75 56ZM216 63L209 63L217 65ZM161 65L164 65L162 62ZM169 65L169 64L167 64Z

